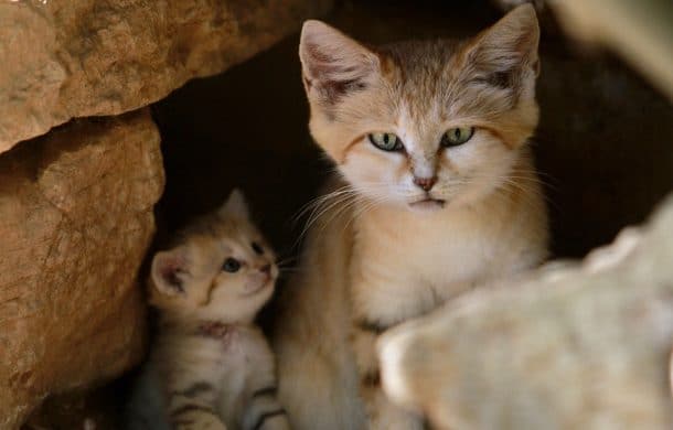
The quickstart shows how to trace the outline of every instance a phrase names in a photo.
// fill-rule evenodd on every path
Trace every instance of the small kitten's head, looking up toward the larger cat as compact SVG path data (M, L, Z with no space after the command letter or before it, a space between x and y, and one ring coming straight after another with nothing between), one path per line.
M235 190L220 209L186 227L171 249L154 255L150 301L174 316L252 321L274 291L275 259Z

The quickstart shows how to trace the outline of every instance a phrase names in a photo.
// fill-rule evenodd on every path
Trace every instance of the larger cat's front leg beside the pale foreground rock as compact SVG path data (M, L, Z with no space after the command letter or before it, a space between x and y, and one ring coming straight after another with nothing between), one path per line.
M360 396L365 406L370 430L421 430L420 417L393 405L381 388L375 344L384 327L355 319L351 343L360 377Z

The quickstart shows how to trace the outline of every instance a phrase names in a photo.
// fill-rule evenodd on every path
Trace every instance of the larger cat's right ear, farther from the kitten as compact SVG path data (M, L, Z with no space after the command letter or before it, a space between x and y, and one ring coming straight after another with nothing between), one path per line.
M472 80L516 89L540 72L540 26L535 8L522 4L479 34L467 47Z

